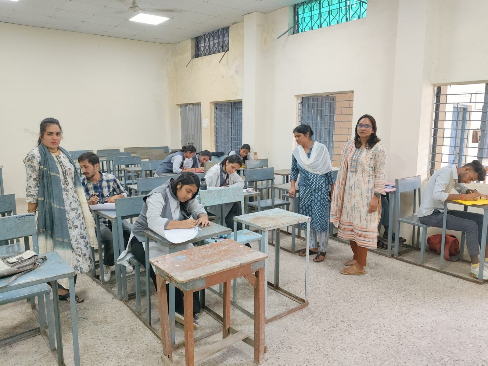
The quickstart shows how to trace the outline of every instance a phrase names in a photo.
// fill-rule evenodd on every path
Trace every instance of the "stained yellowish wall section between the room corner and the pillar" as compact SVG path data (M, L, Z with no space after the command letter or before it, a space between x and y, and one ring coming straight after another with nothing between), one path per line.
M167 45L171 147L181 146L182 143L180 105L201 103L202 120L209 119L207 128L201 122L202 147L215 151L213 104L243 99L243 30L243 22L230 26L229 51L225 55L218 53L191 60L195 54L193 40Z

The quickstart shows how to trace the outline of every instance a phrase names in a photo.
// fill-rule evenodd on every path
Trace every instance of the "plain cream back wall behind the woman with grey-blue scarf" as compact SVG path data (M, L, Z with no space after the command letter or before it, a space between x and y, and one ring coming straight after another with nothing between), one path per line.
M23 159L46 117L67 150L170 144L166 45L2 22L0 35L5 193L25 196Z

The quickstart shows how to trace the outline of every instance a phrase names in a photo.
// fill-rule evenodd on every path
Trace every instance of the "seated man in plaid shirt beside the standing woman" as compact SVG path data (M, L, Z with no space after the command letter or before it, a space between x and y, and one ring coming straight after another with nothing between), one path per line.
M122 184L112 174L102 173L99 170L100 159L97 154L85 152L78 157L83 178L81 183L85 189L86 201L88 204L114 203L116 198L127 197L127 192ZM124 244L129 242L132 225L122 220L122 231ZM114 245L112 240L112 223L105 218L100 218L100 232L103 250L103 278L110 281L111 269L114 263ZM100 253L99 253L100 255ZM126 272L131 273L134 269L131 265L126 267Z

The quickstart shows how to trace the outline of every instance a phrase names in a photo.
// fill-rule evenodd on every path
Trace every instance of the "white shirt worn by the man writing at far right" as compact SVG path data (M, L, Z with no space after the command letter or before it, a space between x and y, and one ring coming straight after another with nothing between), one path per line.
M422 202L417 216L428 216L434 210L444 212L444 202L446 202L452 189L462 194L468 190L466 184L458 183L456 165L445 166L432 174L422 191Z

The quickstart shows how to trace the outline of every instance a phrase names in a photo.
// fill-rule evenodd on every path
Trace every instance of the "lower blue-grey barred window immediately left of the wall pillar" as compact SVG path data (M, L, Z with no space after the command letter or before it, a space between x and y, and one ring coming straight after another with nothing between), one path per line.
M243 143L243 102L214 104L215 150L228 154Z

